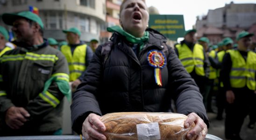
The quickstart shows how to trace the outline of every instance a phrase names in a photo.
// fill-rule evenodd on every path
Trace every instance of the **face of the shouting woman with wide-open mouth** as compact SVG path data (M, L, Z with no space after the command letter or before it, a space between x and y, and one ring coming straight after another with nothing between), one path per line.
M134 35L142 37L149 22L149 13L143 0L127 0L121 9L120 24L122 28Z

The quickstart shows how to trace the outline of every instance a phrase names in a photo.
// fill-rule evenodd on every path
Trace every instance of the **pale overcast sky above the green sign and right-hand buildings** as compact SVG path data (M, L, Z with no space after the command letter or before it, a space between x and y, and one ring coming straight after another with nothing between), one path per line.
M183 14L185 30L196 23L196 16L206 15L209 9L224 7L234 3L254 3L256 0L146 0L148 7L156 7L160 14Z

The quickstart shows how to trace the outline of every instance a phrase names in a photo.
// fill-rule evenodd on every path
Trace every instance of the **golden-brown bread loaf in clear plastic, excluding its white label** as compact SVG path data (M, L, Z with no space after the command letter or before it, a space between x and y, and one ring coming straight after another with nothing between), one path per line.
M154 122L158 123L161 140L185 140L187 132L195 126L193 123L185 129L186 119L183 114L152 112L117 112L101 117L107 140L138 140L136 125Z

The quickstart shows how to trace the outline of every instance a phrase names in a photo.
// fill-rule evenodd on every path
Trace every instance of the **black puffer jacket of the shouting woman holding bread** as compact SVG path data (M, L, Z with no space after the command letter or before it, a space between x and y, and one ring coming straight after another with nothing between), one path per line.
M73 94L71 105L72 128L81 133L82 123L90 112L103 115L109 112L170 112L171 98L176 101L178 113L197 113L207 126L202 96L194 80L180 63L175 52L168 47L167 64L161 69L163 86L155 82L154 68L147 54L152 49L164 51L166 39L156 31L149 31L149 41L135 56L132 44L118 34L111 38L112 50L107 57L101 55L102 45L96 50L85 82ZM103 46L106 44L103 44Z

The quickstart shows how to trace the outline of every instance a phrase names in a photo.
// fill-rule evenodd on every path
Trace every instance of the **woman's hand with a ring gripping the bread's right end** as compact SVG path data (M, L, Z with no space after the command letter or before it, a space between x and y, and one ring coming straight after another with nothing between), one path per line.
M189 126L192 125L192 123L195 123L196 126L190 130L186 137L188 139L191 139L193 137L196 138L196 140L205 140L206 134L207 134L207 126L203 119L201 119L196 113L192 112L188 115L188 118L185 121L185 128L188 128Z

